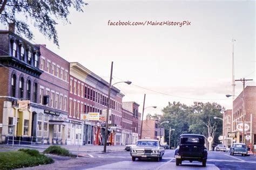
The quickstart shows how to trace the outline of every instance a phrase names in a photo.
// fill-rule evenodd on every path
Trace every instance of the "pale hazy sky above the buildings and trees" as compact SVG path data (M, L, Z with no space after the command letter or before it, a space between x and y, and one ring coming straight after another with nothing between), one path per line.
M71 10L71 24L58 20L59 48L32 28L33 42L46 44L70 62L79 62L113 83L146 114L161 114L168 102L217 102L232 109L232 39L235 79L255 86L254 1L85 1ZM146 25L111 25L113 22ZM147 25L153 22L190 25ZM32 26L32 23L31 23ZM0 29L4 26L1 25ZM236 82L235 95L242 91Z

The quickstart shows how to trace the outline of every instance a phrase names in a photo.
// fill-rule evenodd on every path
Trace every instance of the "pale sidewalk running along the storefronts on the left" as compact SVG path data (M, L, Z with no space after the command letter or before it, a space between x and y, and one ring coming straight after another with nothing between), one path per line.
M52 145L6 145L6 144L0 144L0 150L18 150L18 148L34 148L39 150L39 152L43 152L46 148ZM57 145L63 148L66 148L69 150L72 154L77 154L77 148L79 151L79 155L84 155L86 153L104 153L103 149L104 146L102 145ZM125 146L122 145L117 145L117 146L106 146L106 152L120 152L120 151L125 151L124 150Z

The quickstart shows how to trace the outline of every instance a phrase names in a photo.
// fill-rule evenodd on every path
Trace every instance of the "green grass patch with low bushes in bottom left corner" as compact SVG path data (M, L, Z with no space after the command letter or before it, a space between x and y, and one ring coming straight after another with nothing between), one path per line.
M19 151L0 152L0 169L14 169L51 164L54 161L37 150L21 149Z

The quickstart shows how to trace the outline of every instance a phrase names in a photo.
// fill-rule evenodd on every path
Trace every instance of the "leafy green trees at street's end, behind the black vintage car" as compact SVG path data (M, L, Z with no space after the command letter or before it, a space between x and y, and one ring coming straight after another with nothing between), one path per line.
M171 129L171 146L177 146L180 134L195 133L203 134L205 137L213 137L213 142L218 144L218 136L222 133L223 121L214 119L222 117L224 108L217 103L194 102L187 106L180 102L173 102L167 105L161 115L161 122L169 121L165 124L165 139L169 141L169 132Z

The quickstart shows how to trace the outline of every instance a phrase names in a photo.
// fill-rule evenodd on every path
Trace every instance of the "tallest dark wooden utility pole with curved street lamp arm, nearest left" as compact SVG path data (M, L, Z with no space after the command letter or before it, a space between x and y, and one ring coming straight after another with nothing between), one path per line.
M109 94L107 95L107 114L106 114L106 129L105 129L105 133L104 133L104 150L103 152L106 152L106 144L107 144L107 129L109 128L109 108L110 108L110 91L111 88L113 87L114 84L117 83L126 83L126 84L131 84L131 81L120 81L117 83L114 83L113 85L111 85L112 82L112 72L113 72L113 61L111 63L111 72L110 72L110 81L109 81Z

